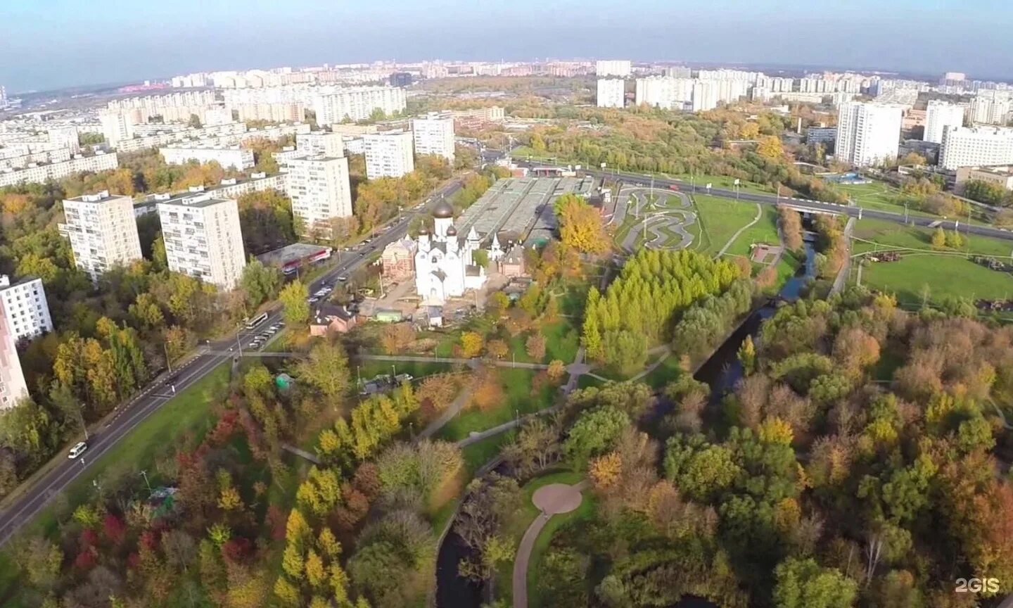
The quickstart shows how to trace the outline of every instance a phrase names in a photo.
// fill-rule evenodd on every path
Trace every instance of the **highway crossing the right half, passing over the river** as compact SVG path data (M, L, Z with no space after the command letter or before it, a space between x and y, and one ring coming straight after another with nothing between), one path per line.
M555 164L549 163L539 163L539 162L519 162L518 164L527 166L557 166ZM611 177L614 179L622 179L624 185L627 184L638 184L647 185L651 183L650 175L642 175L640 173L627 173L624 171L601 171L597 169L585 169L585 173L589 175L595 175L596 177ZM686 192L690 188L690 184L682 179L674 179L668 177L657 177L653 179L654 187L665 187L675 185L679 187L680 192ZM809 201L807 199L789 199L787 197L778 197L776 195L763 195L757 193L747 193L739 192L736 196L735 191L721 189L719 187L712 187L709 191L704 187L697 185L695 188L696 193L699 194L709 194L715 197L726 197L729 199L737 198L739 201L750 201L753 203L760 203L761 205L778 205L780 203L787 203L798 209L810 209L812 211L821 211L825 213L835 213L839 215L846 215L850 217L863 217L863 218L876 218L879 220L886 220L889 222L897 222L899 224L905 223L905 217L903 213L889 213L886 211L879 211L874 209L864 209L861 207L851 207L847 205L837 205L834 203L824 203L822 201ZM993 228L991 226L980 226L976 224L967 224L966 222L949 219L941 219L936 217L925 217L925 216L909 216L908 224L913 224L915 226L924 227L935 227L942 226L946 230L953 230L959 227L961 232L969 232L970 234L980 234L982 236L992 236L995 238L1002 238L1006 240L1013 240L1013 232L1005 228Z

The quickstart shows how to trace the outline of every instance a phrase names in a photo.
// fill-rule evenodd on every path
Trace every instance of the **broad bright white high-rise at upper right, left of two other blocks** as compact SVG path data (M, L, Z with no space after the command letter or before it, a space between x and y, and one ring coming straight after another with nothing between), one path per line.
M901 107L849 101L839 108L834 156L858 167L897 157L901 142Z

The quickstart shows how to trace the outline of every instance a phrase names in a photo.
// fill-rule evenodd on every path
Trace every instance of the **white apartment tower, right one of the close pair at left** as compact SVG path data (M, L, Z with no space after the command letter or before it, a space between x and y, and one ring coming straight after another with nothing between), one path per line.
M197 195L166 201L158 204L158 219L170 271L223 290L239 285L246 255L235 199Z

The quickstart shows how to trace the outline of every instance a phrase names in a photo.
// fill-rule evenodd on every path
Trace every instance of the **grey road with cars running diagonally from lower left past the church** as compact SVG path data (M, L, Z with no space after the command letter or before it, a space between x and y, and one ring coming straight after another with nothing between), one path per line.
M393 240L404 236L408 223L412 218L427 210L428 206L442 197L449 197L461 188L459 180L451 181L438 188L418 208L403 214L391 227L380 233L372 242L359 246L354 251L338 253L338 263L327 271L319 279L309 285L313 293L323 285L333 285L339 276L350 273L362 265L370 255L383 248ZM233 357L230 349L246 345L252 337L271 323L281 320L281 306L275 305L268 311L267 320L252 330L242 329L227 338L210 343L189 361L181 364L171 373L161 374L154 382L146 386L133 400L116 407L108 424L99 431L92 433L88 441L88 450L77 460L63 460L51 471L40 478L34 485L26 489L22 496L7 509L0 512L0 546L10 540L21 526L31 519L57 495L77 477L87 474L93 461L112 449L116 443L128 435L135 427L151 415L165 402L170 400L176 391L181 391L198 382L212 370Z

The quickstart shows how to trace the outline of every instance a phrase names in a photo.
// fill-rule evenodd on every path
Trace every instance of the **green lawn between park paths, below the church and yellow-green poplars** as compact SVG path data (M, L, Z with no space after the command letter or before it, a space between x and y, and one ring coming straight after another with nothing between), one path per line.
M533 398L532 380L536 370L522 368L498 368L503 398L489 409L472 406L462 410L454 420L440 430L438 437L447 441L460 441L472 432L485 431L513 420L517 415L532 413L552 404L557 389L549 384Z

